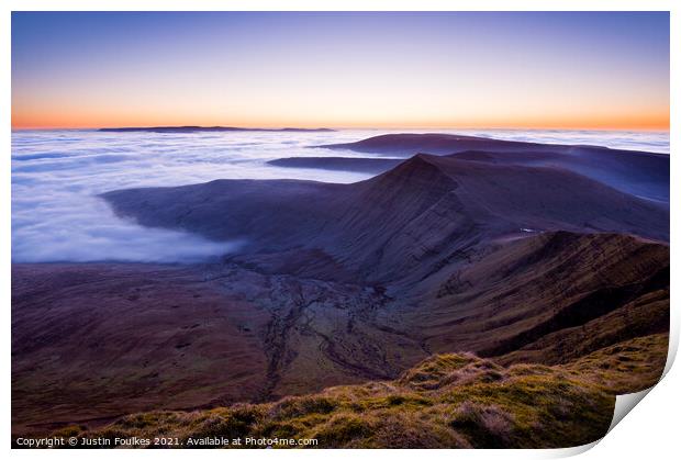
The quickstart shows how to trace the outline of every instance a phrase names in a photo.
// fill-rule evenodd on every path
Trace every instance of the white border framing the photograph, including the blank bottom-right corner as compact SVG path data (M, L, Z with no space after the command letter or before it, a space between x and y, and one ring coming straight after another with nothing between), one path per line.
M681 7L680 2L670 0L650 0L650 1L635 1L635 0L479 0L479 1L462 1L462 0L231 0L231 1L217 1L217 0L3 0L0 2L0 9L2 15L0 16L0 53L2 55L3 64L1 70L3 91L0 93L0 123L3 126L1 132L3 155L1 157L3 181L0 188L0 212L4 216L3 225L1 229L2 238L0 239L0 254L3 259L0 268L0 292L2 293L2 318L4 324L5 335L3 337L3 352L0 361L3 370L4 380L2 381L2 393L4 395L5 404L2 405L4 409L2 425L0 426L4 448L10 448L10 388L11 388L11 364L10 364L10 325L11 325L11 312L10 312L10 248L11 248L11 212L10 212L10 198L11 198L11 177L10 177L10 150L11 150L11 71L10 71L10 53L11 53L11 11L671 11L671 128L670 128L670 142L671 146L676 147L680 144L681 132L679 131L679 104L676 103L679 99L679 81L681 81L681 74L679 71L679 44L681 44L681 36L679 30L681 26L680 15ZM323 7L322 7L323 5ZM674 154L671 154L671 178L672 178L672 207L671 207L671 235L676 240L676 235L679 232L679 216L676 210L676 193L677 189L674 179L680 178L681 175L678 167L678 161L674 159ZM678 260L677 246L671 248L672 267L673 260ZM672 269L671 284L678 285L677 281L679 277ZM672 323L671 323L671 349L670 356L676 355L679 343L679 315L676 305L676 289L671 292L672 300ZM670 359L671 362L671 359ZM678 396L678 389L681 388L681 375L678 371L678 366L672 368L669 374L663 379L660 385L655 388L650 394L646 397L647 403L634 409L634 415L625 417L625 419L609 434L600 444L599 447L589 451L585 458L592 459L612 459L614 457L621 458L636 458L639 459L643 456L648 458L669 458L671 452L676 451L677 437L678 437L678 414L680 404ZM652 441L652 442L650 442ZM466 450L466 451L451 451L451 450L428 450L424 452L424 456L428 456L432 459L451 459L453 456L457 458L467 459L487 459L487 458L511 458L511 459L528 459L528 458L556 458L565 457L580 451L588 450L592 446L578 449L558 449L558 450ZM120 455L121 451L105 450L97 452L97 456L104 458L111 458ZM178 458L191 455L191 457L210 457L210 458L224 458L242 456L248 458L263 458L269 456L270 451L263 450L246 450L246 451L123 451L126 456L144 456L145 458ZM322 451L278 451L278 456L282 458L305 457L319 458L320 455L324 456L328 460L335 460L345 458L348 452L343 450L322 450ZM320 453L321 452L321 453ZM33 458L49 455L54 458L91 458L93 451L36 451L36 450L12 450L12 456L21 458ZM404 458L413 459L416 456L422 455L415 450L369 450L369 451L353 451L351 456L358 456L364 458L369 457L386 457L391 458Z

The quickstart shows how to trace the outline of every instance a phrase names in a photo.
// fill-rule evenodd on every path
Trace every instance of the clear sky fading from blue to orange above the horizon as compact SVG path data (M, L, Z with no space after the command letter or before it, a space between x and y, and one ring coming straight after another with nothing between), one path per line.
M12 126L669 128L669 14L12 13Z

